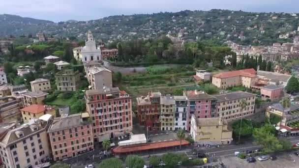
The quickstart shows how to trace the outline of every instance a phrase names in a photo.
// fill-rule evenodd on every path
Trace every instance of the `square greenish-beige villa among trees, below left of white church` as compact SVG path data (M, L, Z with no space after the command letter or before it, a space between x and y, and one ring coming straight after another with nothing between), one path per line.
M56 73L57 90L60 91L76 91L80 85L80 73L73 69L65 69Z

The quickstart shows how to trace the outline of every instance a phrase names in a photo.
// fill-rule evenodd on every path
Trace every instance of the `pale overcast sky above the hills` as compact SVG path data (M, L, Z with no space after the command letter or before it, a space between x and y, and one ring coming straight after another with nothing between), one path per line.
M0 0L0 14L51 20L92 20L111 15L230 9L299 12L299 0Z

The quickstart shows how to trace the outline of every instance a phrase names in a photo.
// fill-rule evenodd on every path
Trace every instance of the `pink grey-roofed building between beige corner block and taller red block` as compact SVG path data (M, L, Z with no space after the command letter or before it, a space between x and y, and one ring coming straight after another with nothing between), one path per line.
M48 130L54 161L93 150L89 118L85 112L54 119Z

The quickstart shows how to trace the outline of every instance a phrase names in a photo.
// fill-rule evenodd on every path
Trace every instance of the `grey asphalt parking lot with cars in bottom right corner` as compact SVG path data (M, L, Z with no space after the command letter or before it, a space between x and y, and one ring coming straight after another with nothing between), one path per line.
M290 157L291 154L291 157ZM275 161L258 161L255 157L255 163L248 163L246 159L240 159L236 156L221 156L222 161L227 168L299 168L299 157L294 152L277 154ZM295 162L293 162L295 160Z

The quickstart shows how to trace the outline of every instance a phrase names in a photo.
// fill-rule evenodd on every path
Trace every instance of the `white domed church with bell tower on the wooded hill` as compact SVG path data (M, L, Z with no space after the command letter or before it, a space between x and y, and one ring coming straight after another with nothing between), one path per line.
M101 61L101 49L96 47L91 31L87 33L87 38L88 40L85 42L85 46L81 50L82 62L89 62L92 60Z

